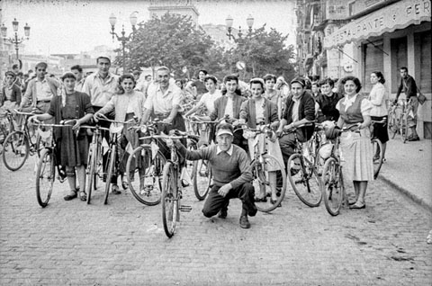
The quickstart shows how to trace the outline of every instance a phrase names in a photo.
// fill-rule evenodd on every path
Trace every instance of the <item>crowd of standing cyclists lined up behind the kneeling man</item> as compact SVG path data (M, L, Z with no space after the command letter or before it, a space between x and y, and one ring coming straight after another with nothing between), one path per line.
M69 122L65 123L70 125L69 128L54 128L53 134L58 142L57 162L64 171L60 174L67 178L70 189L65 200L76 197L86 200L85 167L92 132L81 126L100 121L101 126L109 128L110 121L104 119L145 125L157 119L164 124L160 132L172 134L173 130L193 132L186 124L193 120L232 125L235 130L233 144L244 149L249 158L254 157L255 136L247 129L256 129L258 125L269 127L270 132L263 139L263 152L275 156L285 170L271 169L270 166L271 192L256 190L253 201L266 201L269 197L271 203L276 203L280 195L280 175L276 171L293 172L287 162L295 152L297 142L310 140L316 132L315 125L325 127L329 140L334 139L332 135L338 134L338 130L345 130L340 134L344 175L346 180L353 182L356 192L354 201L349 202L350 209L365 209L367 185L374 180L371 137L383 143L383 156L389 140L385 119L390 102L380 71L370 75L373 89L365 95L356 76L340 79L295 77L288 84L283 76L267 74L245 83L237 75L220 80L206 70L200 70L194 80L175 79L168 67L158 67L152 80L151 76L140 75L138 71L122 76L112 74L108 57L99 57L96 63L98 71L91 75L85 77L83 69L74 66L59 80L48 76L48 66L43 62L36 65L35 76L25 82L16 70L5 73L0 116L4 118L6 111L37 111L38 114L28 121ZM406 72L408 75L408 70ZM216 130L202 130L198 134L201 144L208 146L211 141L217 142ZM121 131L118 168L123 189L128 188L126 163L130 150L139 147L139 136L142 135L130 128ZM103 137L108 139L108 132L104 132ZM418 139L417 133L413 133L411 139ZM187 145L185 139L182 143ZM169 158L169 147L163 141L160 150ZM134 164L143 162L137 160ZM118 182L116 175L107 182L112 183L112 193L121 193ZM280 201L278 206L282 206ZM225 216L227 208L222 206L220 210Z

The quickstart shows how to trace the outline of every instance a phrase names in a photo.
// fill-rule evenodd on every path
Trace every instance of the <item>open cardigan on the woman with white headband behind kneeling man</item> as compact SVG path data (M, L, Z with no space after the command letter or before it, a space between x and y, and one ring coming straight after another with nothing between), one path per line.
M247 121L248 126L252 129L257 128L257 114L255 109L255 100L253 98L241 103L240 119ZM264 98L264 121L266 124L278 121L277 106L268 99Z

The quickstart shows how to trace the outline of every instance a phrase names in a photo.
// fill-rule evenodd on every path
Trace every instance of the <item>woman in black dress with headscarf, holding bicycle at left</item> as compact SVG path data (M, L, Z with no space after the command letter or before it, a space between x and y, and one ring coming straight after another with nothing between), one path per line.
M65 201L77 197L76 174L78 177L81 192L81 201L86 200L85 194L85 165L87 164L88 146L90 144L86 130L79 129L80 125L93 117L93 107L90 103L90 96L76 92L76 76L66 73L61 76L62 88L58 96L54 96L49 105L47 113L33 115L29 121L47 121L54 118L55 123L60 121L73 121L75 125L69 128L58 128L54 130L54 139L58 142L59 164L66 166L67 182L70 192L65 196ZM78 131L79 130L79 131ZM76 131L78 133L76 134Z

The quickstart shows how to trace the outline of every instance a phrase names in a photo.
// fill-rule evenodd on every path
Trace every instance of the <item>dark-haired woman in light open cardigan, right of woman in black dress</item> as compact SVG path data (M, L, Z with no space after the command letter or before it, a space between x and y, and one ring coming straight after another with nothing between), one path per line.
M101 110L94 113L94 119L99 120L99 114L106 114L108 112L115 112L115 121L130 121L135 119L140 121L142 117L142 111L144 110L144 94L134 90L136 85L135 77L130 74L125 74L119 79L119 86L117 94L114 94L111 100L106 103ZM126 189L128 187L126 176L126 163L128 161L129 153L126 150L132 150L139 146L139 136L135 130L128 130L129 126L124 126L120 139L120 171L122 174L122 187ZM133 166L134 163L132 163ZM140 162L136 162L140 164ZM135 170L135 168L131 168ZM139 169L139 171L141 171ZM108 183L108 182L107 182ZM117 178L112 180L112 190L119 192L117 185Z

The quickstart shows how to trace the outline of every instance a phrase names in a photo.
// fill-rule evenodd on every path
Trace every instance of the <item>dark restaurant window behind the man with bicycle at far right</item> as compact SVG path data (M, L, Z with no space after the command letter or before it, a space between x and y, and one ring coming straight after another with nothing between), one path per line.
M392 94L398 92L401 83L401 67L408 67L407 38L397 38L391 40L392 46ZM410 73L410 70L409 70Z

